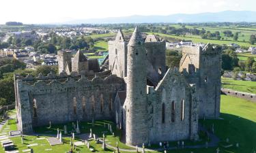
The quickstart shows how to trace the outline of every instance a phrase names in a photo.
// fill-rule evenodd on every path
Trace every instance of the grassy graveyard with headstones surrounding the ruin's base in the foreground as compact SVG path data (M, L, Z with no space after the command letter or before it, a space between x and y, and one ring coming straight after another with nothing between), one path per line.
M200 119L200 124L218 137L217 146L212 147L212 138L199 131L201 141L168 142L169 153L215 153L234 152L254 153L256 150L256 104L235 97L221 96L221 119ZM16 131L15 110L8 113L13 119L3 124L0 133L3 141L14 144L18 152L137 152L134 146L122 143L122 133L109 120L95 122L69 122L67 124L49 124L33 129L33 135L9 136ZM3 123L3 121L2 121ZM77 124L79 126L77 126ZM6 133L6 134L5 134ZM9 137L8 137L9 136ZM104 137L104 138L103 138ZM104 142L104 143L103 143ZM117 147L118 146L118 147ZM144 146L145 152L165 152L164 142ZM197 148L198 147L198 148ZM118 149L117 149L118 148ZM143 148L138 148L143 152ZM3 148L0 152L4 152Z

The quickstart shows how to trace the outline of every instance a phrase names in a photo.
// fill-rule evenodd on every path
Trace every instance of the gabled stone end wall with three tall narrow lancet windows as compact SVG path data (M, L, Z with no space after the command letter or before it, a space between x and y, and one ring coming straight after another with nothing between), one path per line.
M150 141L197 139L197 95L177 69L148 89Z

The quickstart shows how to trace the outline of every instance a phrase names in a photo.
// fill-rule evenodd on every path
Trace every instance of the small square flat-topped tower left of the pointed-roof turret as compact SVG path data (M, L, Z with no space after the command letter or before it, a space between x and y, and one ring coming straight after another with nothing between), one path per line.
M58 56L59 73L65 71L69 74L71 71L71 51L59 50Z

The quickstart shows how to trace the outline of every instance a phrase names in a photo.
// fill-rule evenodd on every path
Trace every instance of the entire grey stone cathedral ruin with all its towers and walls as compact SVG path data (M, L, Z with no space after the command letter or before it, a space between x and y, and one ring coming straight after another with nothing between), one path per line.
M113 120L126 143L198 139L198 118L218 118L221 48L184 48L180 68L165 63L165 40L130 40L118 31L102 65L81 51L59 51L59 74L14 75L18 129L66 122Z

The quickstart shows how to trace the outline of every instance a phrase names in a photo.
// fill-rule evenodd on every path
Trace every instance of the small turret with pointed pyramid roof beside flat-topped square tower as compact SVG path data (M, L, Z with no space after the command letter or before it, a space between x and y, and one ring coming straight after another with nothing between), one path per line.
M80 50L76 52L73 58L72 71L76 71L77 73L86 73L88 71L88 60Z

